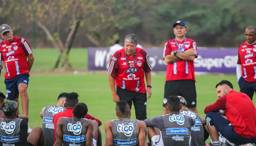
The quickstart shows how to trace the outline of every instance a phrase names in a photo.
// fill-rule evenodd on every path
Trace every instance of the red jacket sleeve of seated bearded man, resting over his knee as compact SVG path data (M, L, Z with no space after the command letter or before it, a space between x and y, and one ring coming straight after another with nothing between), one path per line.
M207 114L208 112L219 111L220 109L226 108L226 96L219 98L215 103L212 105L206 106L204 109L204 113Z

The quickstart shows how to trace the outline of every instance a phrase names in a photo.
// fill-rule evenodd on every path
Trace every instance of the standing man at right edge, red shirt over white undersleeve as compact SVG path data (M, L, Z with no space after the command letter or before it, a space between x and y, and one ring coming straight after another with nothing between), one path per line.
M245 39L238 48L236 76L240 92L252 99L256 92L256 26L245 29Z

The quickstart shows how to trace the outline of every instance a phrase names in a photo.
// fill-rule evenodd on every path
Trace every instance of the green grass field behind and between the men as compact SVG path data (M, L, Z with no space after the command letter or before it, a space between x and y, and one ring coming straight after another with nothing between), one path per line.
M58 74L38 74L33 70L52 69L58 57L55 50L34 50L35 62L30 73L28 88L29 95L29 124L33 128L41 126L41 109L44 106L57 104L57 97L61 92L77 92L79 102L87 104L89 114L101 120L103 144L105 143L104 124L107 120L116 119L115 103L108 84L108 75L105 74L84 74L84 75L58 75ZM70 53L70 62L74 68L87 67L87 50L74 49ZM0 77L0 92L5 92L3 74ZM196 76L197 88L197 108L201 117L204 117L204 108L217 100L215 85L221 80L229 80L233 83L234 89L239 90L236 75L204 75ZM152 76L152 97L147 102L147 116L153 118L162 114L163 91L165 75ZM256 99L254 97L254 104ZM20 105L21 108L21 105ZM135 119L132 109L131 119ZM209 141L207 141L209 142Z

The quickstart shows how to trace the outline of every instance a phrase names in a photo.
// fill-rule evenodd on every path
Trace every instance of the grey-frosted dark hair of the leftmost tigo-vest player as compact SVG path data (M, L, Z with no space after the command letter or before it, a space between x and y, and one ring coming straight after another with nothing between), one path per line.
M3 103L2 110L5 116L9 117L18 111L18 103L16 101L7 101Z

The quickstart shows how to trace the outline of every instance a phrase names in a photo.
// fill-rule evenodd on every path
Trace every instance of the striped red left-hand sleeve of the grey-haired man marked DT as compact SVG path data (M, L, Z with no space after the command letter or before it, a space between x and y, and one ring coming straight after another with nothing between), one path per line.
M108 75L116 76L119 68L120 52L115 52L108 66Z

